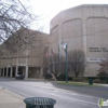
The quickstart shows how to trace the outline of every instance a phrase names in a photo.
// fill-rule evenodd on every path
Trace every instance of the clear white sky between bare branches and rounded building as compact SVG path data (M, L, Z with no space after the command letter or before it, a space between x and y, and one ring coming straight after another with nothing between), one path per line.
M108 4L108 0L28 0L31 13L41 16L39 25L45 25L49 32L50 21L60 11L80 4ZM37 25L37 26L39 26ZM37 28L32 25L32 28Z

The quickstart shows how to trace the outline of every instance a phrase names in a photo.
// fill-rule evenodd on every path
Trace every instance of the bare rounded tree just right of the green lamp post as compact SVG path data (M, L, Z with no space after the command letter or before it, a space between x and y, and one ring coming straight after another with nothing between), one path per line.
M84 71L85 67L85 54L81 50L72 50L68 52L69 65L75 72L75 76L78 77L80 72Z

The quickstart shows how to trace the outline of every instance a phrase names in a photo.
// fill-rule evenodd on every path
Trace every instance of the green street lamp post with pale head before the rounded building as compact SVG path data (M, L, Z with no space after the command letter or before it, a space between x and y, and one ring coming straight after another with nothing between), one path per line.
M68 82L68 58L67 58L67 43L62 41L62 46L66 54L66 63L65 63L65 73L66 73L66 83Z

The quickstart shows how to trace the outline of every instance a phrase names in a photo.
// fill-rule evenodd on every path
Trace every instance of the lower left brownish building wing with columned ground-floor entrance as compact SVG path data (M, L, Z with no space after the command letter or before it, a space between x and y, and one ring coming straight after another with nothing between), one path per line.
M43 56L49 35L22 28L0 45L0 76L43 78Z

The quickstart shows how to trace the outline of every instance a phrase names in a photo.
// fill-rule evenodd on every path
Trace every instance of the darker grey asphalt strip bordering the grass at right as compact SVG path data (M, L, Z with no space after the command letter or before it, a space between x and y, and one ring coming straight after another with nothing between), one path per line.
M73 91L79 94L96 96L108 99L108 84L98 84L97 86L78 86L78 85L64 85L53 84L57 89Z

